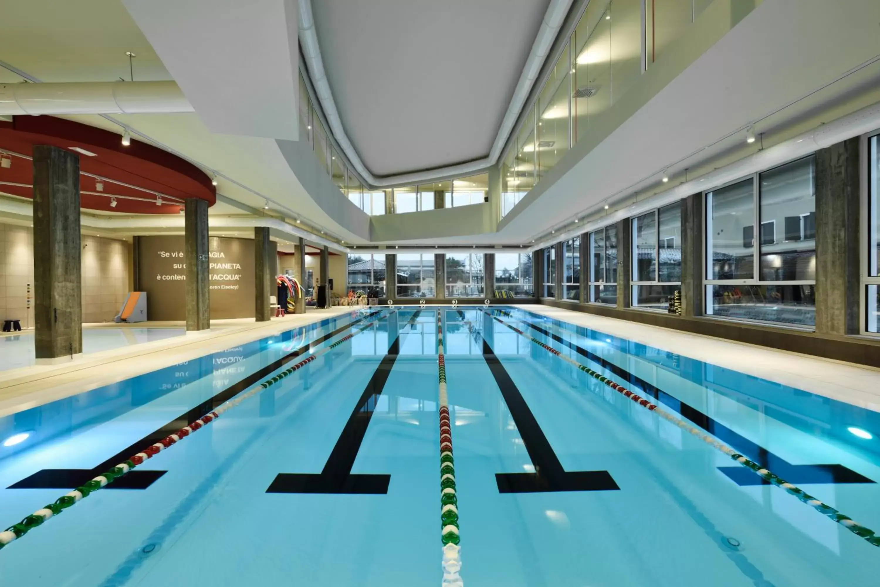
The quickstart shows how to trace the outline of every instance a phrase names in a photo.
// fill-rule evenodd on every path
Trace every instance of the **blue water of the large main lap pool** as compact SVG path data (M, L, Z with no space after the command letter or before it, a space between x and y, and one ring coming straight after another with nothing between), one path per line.
M291 352L318 356L5 547L0 585L437 585L437 312L466 585L876 584L880 547L482 309L435 306L328 319L0 419L0 441L29 435L0 444L5 527ZM876 413L490 312L880 532ZM375 324L320 352L356 320Z

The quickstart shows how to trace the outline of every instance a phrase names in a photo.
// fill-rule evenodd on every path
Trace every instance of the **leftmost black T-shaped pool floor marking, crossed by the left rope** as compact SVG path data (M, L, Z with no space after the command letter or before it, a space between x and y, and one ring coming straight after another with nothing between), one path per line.
M269 363L268 365L260 369L260 371L256 371L239 381L237 384L227 387L222 392L217 393L214 397L210 398L209 400L205 400L202 402L202 404L193 407L187 412L184 412L161 428L153 430L152 432L150 432L150 434L136 441L134 444L128 445L127 448L117 452L109 459L106 459L99 466L96 466L92 469L42 469L41 471L33 473L33 475L31 475L30 477L26 477L25 479L18 481L18 483L13 483L8 487L8 489L77 488L86 481L89 481L94 477L97 477L99 474L104 473L107 469L118 465L125 459L128 459L128 457L132 456L133 454L142 451L150 444L158 443L158 441L183 428L189 422L194 422L195 420L198 420L200 417L202 417L202 415L208 414L211 410L222 404L224 401L230 400L231 398L238 395L238 393L241 393L252 385L259 383L260 379L266 378L270 373L282 367L283 365L290 363L290 361L297 358L297 356L302 355L307 350L313 349L320 343L330 338L333 338L337 334L341 334L348 328L354 327L358 322L362 322L365 319L372 318L379 312L381 311L377 310L376 312L371 312L370 314L367 314L362 318L352 320L351 322L348 322L348 324L336 328L332 333L325 334L324 336L315 339L309 344L300 347L299 349L294 350L293 352L285 356L282 356L280 359L272 363ZM134 471L118 478L110 485L107 485L106 489L146 489L165 473L166 471L148 471L143 469L135 469Z

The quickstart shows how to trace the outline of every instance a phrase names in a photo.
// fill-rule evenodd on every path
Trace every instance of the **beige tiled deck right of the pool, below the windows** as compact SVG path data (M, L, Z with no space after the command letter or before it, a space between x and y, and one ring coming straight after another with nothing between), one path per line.
M516 307L880 412L880 369L546 305Z

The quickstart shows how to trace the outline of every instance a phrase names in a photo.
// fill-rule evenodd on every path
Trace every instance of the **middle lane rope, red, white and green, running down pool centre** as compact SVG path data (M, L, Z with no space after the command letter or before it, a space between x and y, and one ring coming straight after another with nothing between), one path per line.
M443 528L443 585L463 587L461 548L458 546L458 494L455 488L455 459L452 457L452 429L449 396L446 394L446 361L443 350L443 310L437 311L437 379L440 389L440 525Z

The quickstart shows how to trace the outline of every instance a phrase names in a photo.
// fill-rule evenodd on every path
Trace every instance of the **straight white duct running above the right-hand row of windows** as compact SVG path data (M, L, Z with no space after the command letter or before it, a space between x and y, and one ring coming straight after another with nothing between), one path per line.
M854 136L862 136L865 133L876 130L876 128L880 128L880 103L867 106L855 111L853 114L842 116L837 120L826 122L817 128L803 133L803 135L795 136L788 139L788 141L759 150L730 165L724 165L696 179L680 183L678 186L659 194L654 194L642 202L615 210L613 214L603 216L598 220L580 223L576 228L571 228L567 231L561 231L557 227L556 234L545 235L540 243L529 248L529 252L531 253L545 246L568 240L584 232L596 231L603 226L615 224L632 216L639 216L643 212L678 202L689 195L699 194L700 192L723 186L731 181L743 179L752 175L752 173L763 172L789 161L806 157L819 149L825 149ZM613 198L619 195L621 194L608 194L609 197L604 197L601 194L597 194L597 197L599 202L609 200L613 202ZM551 236L552 238L548 238Z

